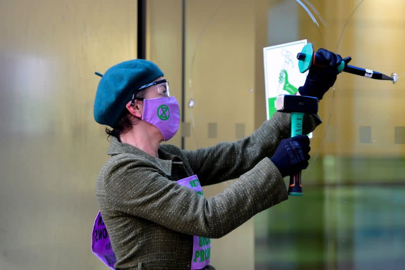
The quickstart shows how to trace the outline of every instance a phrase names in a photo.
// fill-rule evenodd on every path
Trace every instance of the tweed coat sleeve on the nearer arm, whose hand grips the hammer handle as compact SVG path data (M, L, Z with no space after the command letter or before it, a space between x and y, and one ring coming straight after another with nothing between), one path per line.
M130 157L111 163L102 175L111 210L188 235L220 238L288 198L284 180L268 158L207 199Z

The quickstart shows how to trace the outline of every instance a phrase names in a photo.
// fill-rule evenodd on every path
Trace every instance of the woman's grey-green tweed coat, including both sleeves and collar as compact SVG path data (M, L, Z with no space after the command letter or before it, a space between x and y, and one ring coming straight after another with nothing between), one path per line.
M306 115L304 132L320 123L317 115ZM158 158L112 137L96 195L117 258L114 267L190 269L193 235L220 238L287 200L286 184L268 157L290 130L289 114L276 112L244 139L197 150L163 144ZM176 183L194 174L203 186L238 179L204 198Z

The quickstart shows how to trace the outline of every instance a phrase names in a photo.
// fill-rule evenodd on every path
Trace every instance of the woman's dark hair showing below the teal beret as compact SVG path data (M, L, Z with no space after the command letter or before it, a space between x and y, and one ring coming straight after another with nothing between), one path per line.
M138 98L145 98L145 96L146 89L143 89L135 94L135 97ZM121 112L121 115L119 115L118 121L115 123L114 127L112 129L105 128L105 133L107 133L108 135L107 139L110 136L113 136L120 142L121 140L119 139L119 136L130 131L132 129L132 126L138 120L139 119L137 117L134 117L134 115L132 115L127 108L124 108L123 112Z

